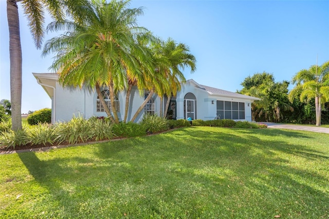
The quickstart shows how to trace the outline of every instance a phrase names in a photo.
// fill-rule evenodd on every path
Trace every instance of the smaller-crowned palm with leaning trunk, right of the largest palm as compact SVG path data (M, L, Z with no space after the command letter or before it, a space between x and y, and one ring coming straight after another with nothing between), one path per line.
M165 42L161 39L155 39L149 47L154 58L155 72L154 75L151 74L152 77L145 79L147 81L145 87L150 93L136 111L132 121L136 120L153 94L160 97L160 104L162 104L163 96L167 95L168 101L163 115L166 117L171 95L176 95L177 91L180 90L180 82L185 82L181 70L190 67L191 72L194 72L196 69L195 57L189 53L189 47L183 43L177 44L171 38ZM162 108L160 105L160 116Z

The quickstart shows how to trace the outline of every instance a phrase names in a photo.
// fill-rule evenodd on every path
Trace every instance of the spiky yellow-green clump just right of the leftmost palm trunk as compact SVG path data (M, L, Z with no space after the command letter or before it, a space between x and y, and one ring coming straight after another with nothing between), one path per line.
M50 143L52 145L55 138L53 126L39 122L29 128L28 137L32 144L46 145L46 143Z

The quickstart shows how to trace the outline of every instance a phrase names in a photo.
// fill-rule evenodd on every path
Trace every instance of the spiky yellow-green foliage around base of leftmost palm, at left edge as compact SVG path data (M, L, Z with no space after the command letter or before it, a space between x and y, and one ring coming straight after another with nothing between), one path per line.
M25 129L3 132L0 135L0 145L6 145L7 148L24 146L29 143L29 137Z

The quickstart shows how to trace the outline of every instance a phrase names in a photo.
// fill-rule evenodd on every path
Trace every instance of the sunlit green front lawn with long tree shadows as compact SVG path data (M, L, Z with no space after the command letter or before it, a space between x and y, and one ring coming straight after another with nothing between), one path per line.
M0 218L328 218L329 135L187 127L0 156Z

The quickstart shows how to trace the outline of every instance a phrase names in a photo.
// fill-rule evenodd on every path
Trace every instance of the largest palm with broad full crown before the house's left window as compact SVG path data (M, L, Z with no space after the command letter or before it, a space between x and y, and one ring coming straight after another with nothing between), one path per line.
M59 38L53 38L45 45L43 54L57 52L51 66L60 71L59 81L63 86L96 87L98 97L107 116L118 123L116 107L111 111L101 94L102 87L109 88L111 105L115 95L127 88L127 75L140 74L136 57L142 53L136 44L137 36L148 32L138 27L137 15L142 8L129 9L129 1L93 2L92 8L85 7L85 22L54 22L50 30L71 28ZM132 52L136 55L132 55ZM139 53L138 53L139 52Z

